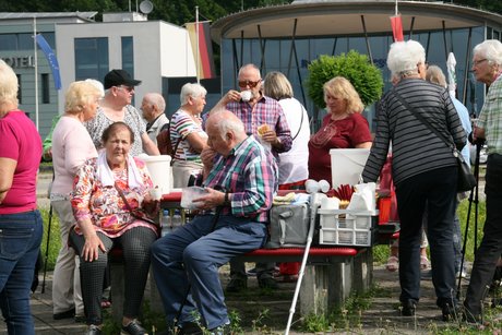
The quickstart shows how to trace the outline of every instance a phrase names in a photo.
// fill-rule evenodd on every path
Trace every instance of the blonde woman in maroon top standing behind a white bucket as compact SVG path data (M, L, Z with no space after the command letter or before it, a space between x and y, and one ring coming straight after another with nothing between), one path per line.
M323 89L328 113L309 141L309 178L331 183L330 149L370 148L372 137L368 121L361 116L364 106L348 80L335 76Z

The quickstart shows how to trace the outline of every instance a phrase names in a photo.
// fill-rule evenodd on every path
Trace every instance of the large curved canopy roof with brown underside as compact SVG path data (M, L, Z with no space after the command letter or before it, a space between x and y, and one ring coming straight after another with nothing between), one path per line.
M406 32L491 26L502 31L502 15L443 2L399 1ZM212 37L279 38L292 35L350 36L391 33L394 0L296 1L291 4L259 8L224 16L212 25Z

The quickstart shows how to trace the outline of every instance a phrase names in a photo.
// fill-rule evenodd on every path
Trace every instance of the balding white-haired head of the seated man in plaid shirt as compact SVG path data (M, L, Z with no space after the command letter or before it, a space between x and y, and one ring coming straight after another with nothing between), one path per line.
M244 124L229 110L214 110L206 121L207 144L223 156L227 156L230 151L244 141Z

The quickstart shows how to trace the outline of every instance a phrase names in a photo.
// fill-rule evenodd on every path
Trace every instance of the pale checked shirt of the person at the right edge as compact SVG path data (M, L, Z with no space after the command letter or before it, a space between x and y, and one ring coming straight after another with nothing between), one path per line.
M488 154L502 155L502 74L488 89L476 125L485 129Z

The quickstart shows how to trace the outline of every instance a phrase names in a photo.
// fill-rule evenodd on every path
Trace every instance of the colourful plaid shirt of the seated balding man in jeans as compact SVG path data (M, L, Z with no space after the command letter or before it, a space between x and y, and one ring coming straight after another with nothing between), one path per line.
M278 170L272 155L248 137L232 148L227 157L218 156L204 184L228 190L230 208L222 214L255 217L267 223L267 211L277 190Z

